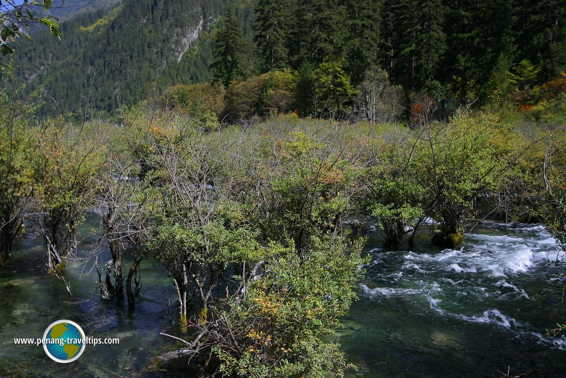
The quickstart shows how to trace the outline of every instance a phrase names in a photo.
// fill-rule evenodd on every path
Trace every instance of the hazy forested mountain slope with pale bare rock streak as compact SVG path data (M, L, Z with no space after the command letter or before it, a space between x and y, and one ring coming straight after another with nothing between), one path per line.
M44 95L43 115L111 112L147 96L156 80L207 80L207 35L225 8L218 0L126 0L63 22L61 41L34 36L14 66L29 91Z

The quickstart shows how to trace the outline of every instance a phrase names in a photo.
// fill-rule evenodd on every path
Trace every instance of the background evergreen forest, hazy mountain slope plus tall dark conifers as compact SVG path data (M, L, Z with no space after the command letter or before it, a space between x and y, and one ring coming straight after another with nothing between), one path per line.
M272 70L300 79L294 108L312 114L322 64L346 108L372 66L406 98L479 105L564 70L564 18L559 1L125 1L64 22L61 41L35 36L15 66L50 99L43 114L112 114L174 84L228 86Z

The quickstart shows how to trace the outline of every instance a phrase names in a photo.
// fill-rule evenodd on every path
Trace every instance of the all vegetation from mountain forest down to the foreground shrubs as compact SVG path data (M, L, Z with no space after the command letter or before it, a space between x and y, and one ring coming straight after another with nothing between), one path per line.
M66 264L96 261L97 303L132 313L155 257L184 344L145 369L207 376L355 369L334 336L370 224L383 250L438 252L482 217L540 222L563 288L565 18L550 0L126 0L15 39L0 264L37 237L68 295Z

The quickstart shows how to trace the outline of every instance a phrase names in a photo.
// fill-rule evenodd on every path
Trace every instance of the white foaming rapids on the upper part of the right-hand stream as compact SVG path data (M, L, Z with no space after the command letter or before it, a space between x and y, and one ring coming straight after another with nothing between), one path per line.
M518 282L542 271L556 244L540 225L511 226L508 231L502 230L505 224L486 224L484 229L496 232L467 235L460 250L375 250L372 269L378 287L362 284L362 291L373 298L410 297L411 303L454 320L528 332L528 321L517 320L504 308L531 300Z

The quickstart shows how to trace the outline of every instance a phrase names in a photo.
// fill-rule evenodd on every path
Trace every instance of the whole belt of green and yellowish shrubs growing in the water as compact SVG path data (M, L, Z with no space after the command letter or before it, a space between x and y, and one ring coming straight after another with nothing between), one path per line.
M178 104L147 101L121 126L31 126L33 109L15 103L4 96L1 107L12 114L1 145L2 206L11 211L3 240L15 245L22 226L41 235L47 273L66 285L77 228L95 209L98 248L112 254L98 269L100 298L131 308L143 290L140 262L155 254L177 292L187 346L150 367L204 355L226 375L353 368L328 335L367 262L355 231L363 224L347 222L355 214L375 220L389 249L425 228L431 243L458 248L462 222L478 211L542 222L563 241L563 113L534 120L513 108L457 109L415 125L291 112L211 127ZM2 259L9 264L10 249Z

